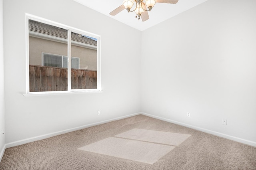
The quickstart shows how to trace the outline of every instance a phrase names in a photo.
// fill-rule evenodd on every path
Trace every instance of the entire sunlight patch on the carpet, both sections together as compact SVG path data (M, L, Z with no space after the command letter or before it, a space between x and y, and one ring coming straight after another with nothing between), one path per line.
M78 149L154 164L189 136L191 135L135 128Z

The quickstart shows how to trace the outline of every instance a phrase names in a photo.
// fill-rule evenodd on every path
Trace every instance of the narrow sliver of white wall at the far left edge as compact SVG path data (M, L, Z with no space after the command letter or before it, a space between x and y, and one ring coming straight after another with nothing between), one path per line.
M4 130L4 40L3 40L3 0L0 0L0 161L5 144Z

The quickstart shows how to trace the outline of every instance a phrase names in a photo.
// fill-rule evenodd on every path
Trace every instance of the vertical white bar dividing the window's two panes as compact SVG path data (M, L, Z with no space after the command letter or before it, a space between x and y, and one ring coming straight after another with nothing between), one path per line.
M68 30L68 91L71 90L71 31Z

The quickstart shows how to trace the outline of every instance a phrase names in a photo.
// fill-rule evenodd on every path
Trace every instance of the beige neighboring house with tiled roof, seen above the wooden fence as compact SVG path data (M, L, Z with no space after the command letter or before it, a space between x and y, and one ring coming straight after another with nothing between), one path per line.
M44 65L44 55L54 59L64 56L64 60L67 59L67 36L67 30L29 20L29 64ZM97 71L97 41L73 32L71 40L75 68Z

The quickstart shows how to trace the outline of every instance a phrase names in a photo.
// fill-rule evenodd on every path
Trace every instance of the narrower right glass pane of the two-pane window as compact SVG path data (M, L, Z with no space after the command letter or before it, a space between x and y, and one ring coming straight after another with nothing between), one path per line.
M71 33L71 89L97 89L97 39Z

